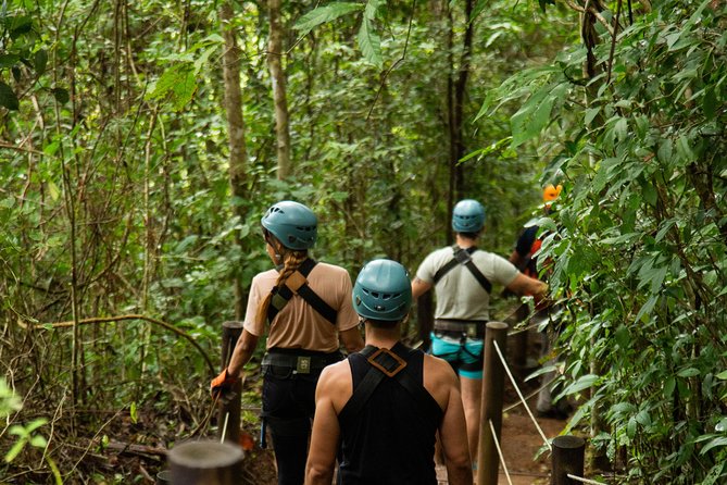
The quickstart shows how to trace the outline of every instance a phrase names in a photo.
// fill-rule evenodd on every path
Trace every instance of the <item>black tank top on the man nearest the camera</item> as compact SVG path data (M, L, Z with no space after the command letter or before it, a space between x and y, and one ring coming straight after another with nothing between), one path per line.
M424 388L424 352L401 343L392 351L406 361L401 372L409 373L423 393L413 394L396 376L385 376L356 415L352 415L351 400L346 403L338 416L342 485L437 485L435 433L443 412ZM369 369L378 371L362 353L352 353L348 359L355 396Z

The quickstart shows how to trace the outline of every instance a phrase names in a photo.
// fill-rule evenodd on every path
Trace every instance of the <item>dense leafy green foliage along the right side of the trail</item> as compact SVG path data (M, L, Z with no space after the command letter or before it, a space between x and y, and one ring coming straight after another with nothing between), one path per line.
M509 78L513 145L547 129L567 178L544 256L573 323L572 425L628 483L727 477L727 9L615 2L584 43ZM586 69L584 69L586 66ZM523 98L527 100L523 102ZM565 115L564 115L565 114Z

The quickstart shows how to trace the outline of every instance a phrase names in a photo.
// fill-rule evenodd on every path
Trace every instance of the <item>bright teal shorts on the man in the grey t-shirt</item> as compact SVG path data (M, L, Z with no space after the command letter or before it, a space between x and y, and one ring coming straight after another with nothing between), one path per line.
M431 332L430 338L429 352L449 362L457 375L467 378L482 378L485 343L480 338L467 337L464 332L440 331Z

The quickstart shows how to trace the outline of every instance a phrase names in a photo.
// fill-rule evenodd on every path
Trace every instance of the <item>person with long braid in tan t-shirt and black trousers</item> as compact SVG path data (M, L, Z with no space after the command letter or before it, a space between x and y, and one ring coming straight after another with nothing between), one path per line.
M263 358L263 410L273 438L278 484L303 483L315 386L323 369L363 347L351 303L351 277L311 259L317 219L305 206L281 201L262 217L275 269L252 279L242 335L225 371L211 383L226 393L239 378L267 329Z

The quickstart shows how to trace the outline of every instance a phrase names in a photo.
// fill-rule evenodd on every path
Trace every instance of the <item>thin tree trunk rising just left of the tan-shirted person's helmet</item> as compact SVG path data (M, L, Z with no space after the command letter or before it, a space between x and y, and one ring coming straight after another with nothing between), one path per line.
M227 114L227 133L229 136L229 184L233 194L235 213L245 221L243 204L246 199L246 166L248 163L245 145L245 120L242 119L242 89L240 88L240 48L231 22L234 18L233 2L225 0L220 8L222 34L225 39L223 55L223 76L225 83L225 112ZM242 250L242 240L236 233L236 242ZM242 284L235 278L235 318L242 320L245 298Z

